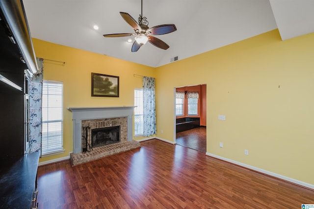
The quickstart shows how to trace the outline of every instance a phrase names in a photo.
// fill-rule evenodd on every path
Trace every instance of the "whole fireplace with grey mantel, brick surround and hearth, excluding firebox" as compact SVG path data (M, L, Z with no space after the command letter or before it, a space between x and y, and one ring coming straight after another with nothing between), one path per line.
M73 153L70 155L73 166L141 147L139 142L132 139L134 106L68 107L68 109L73 112ZM86 126L91 130L120 126L119 142L93 147L90 152L83 153L82 127Z

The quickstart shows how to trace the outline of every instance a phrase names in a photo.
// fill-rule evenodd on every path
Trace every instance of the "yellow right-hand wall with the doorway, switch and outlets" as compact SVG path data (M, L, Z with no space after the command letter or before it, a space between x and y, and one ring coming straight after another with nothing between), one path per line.
M158 67L156 78L158 137L174 138L174 87L204 83L208 153L314 184L314 33L281 41L269 31Z

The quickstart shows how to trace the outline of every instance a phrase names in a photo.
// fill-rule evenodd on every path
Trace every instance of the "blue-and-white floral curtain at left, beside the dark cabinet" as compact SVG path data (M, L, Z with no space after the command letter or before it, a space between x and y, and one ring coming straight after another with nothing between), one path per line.
M37 58L38 71L28 83L29 90L29 146L30 152L40 152L42 133L42 93L44 59Z

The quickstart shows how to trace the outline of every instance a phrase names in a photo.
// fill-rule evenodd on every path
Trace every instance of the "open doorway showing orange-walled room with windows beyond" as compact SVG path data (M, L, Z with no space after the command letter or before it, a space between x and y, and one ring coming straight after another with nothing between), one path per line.
M175 88L175 139L206 153L206 84Z

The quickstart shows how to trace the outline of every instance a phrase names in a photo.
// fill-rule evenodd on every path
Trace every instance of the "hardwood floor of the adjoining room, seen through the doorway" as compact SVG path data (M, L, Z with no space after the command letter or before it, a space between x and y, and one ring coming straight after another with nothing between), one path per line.
M206 127L182 131L176 134L178 145L206 153Z

